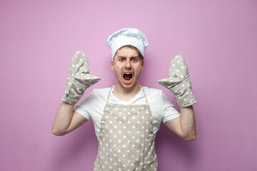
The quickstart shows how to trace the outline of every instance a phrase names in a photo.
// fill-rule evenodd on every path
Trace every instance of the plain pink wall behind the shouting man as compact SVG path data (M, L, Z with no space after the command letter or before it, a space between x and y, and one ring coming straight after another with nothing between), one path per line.
M69 62L76 51L115 84L106 38L125 27L148 38L141 85L168 76L173 56L185 58L197 139L165 126L157 133L159 170L257 170L257 1L0 1L0 170L92 170L97 141L91 120L69 135L52 135Z

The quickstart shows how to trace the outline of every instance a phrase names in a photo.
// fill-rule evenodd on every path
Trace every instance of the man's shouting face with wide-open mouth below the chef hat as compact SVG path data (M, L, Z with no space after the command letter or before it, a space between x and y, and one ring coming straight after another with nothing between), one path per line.
M140 60L135 49L122 47L111 61L111 69L114 71L117 86L133 88L138 86L138 79L144 68L144 61Z

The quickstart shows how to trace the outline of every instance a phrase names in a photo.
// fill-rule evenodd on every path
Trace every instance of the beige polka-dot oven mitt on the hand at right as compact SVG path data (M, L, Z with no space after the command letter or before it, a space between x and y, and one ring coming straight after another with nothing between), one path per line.
M172 91L181 108L196 103L189 79L188 67L182 56L176 56L172 59L168 78L161 79L158 83Z

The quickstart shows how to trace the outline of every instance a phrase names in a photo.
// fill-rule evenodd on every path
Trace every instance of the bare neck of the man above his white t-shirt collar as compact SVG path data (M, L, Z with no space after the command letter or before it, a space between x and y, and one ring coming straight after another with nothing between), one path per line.
M124 88L121 85L117 84L114 87L114 95L125 101L131 100L131 98L135 97L137 93L141 90L141 87L137 84L136 86L133 86L131 88Z

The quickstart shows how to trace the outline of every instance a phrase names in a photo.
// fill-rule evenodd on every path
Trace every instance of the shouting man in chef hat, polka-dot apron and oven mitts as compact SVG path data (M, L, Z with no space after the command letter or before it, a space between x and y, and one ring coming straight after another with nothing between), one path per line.
M107 45L112 52L116 86L93 90L74 109L84 90L100 79L89 74L84 53L77 52L71 61L64 102L56 114L53 133L65 135L92 118L99 140L94 170L157 170L154 138L161 121L184 140L196 138L192 108L196 100L186 63L176 56L171 61L169 77L158 81L174 93L181 106L178 113L161 90L138 84L148 46L141 31L116 31L107 39Z

